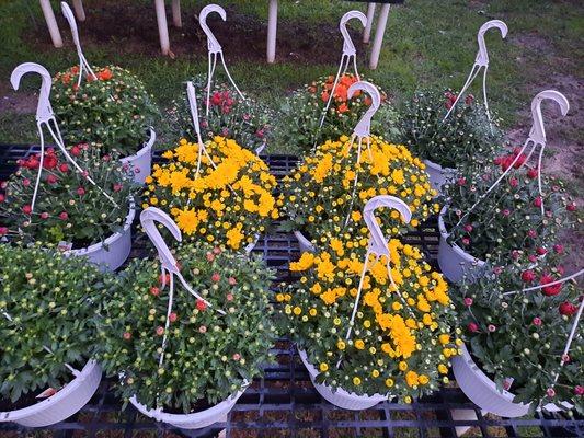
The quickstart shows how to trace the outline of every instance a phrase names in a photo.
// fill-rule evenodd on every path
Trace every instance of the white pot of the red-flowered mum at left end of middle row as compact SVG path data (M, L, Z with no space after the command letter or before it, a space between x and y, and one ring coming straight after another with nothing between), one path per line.
M134 200L130 201L129 212L122 231L115 232L103 242L91 246L65 252L66 256L88 257L91 263L104 267L106 270L115 270L124 264L131 251L131 222L136 216Z

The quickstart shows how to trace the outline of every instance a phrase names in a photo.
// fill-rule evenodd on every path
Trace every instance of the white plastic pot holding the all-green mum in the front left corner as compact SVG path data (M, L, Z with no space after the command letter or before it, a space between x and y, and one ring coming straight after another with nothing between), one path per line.
M26 427L44 427L62 422L77 413L93 396L102 369L90 360L79 374L55 395L22 410L0 412L0 423L13 422Z

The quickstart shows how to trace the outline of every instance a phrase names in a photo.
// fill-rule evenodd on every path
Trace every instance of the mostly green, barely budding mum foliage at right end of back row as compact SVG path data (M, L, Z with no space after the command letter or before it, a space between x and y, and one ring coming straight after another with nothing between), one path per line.
M400 112L401 141L413 153L443 168L489 160L503 138L497 122L489 122L472 94L457 103L444 120L456 97L450 91L419 91Z

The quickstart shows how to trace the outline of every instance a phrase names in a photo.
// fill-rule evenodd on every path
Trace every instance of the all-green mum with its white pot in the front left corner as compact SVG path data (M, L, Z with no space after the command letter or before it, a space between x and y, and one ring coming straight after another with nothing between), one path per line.
M112 285L83 258L0 244L0 422L58 423L98 390L95 306Z

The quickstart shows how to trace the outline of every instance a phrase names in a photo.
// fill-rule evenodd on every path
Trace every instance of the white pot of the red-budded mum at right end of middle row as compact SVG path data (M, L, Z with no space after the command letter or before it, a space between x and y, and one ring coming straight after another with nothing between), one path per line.
M444 206L438 216L438 230L440 231L440 242L438 245L438 265L446 278L453 283L459 283L465 274L471 278L484 267L485 262L465 252L457 244L448 243L448 232L444 224L444 215L447 206Z

